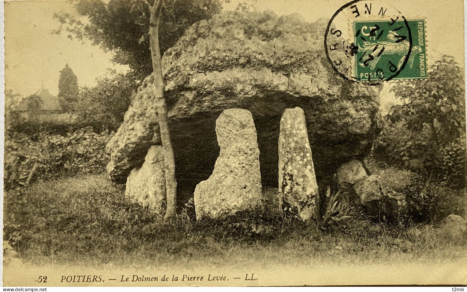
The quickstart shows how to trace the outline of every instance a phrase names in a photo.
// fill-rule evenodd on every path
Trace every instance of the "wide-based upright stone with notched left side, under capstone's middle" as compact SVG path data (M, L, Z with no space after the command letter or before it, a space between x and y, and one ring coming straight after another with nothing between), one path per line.
M219 157L211 176L194 192L196 218L219 218L254 208L261 202L256 128L246 109L224 110L216 120Z

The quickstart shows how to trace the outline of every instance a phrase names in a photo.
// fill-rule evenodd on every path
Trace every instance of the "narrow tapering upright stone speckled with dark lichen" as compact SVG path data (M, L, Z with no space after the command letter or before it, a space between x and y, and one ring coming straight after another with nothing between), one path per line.
M279 204L283 209L297 210L300 218L308 220L315 212L317 195L303 109L287 108L279 132Z

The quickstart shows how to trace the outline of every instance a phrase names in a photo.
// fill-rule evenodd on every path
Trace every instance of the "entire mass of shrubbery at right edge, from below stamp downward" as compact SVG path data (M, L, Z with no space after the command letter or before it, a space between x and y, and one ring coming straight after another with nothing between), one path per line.
M390 123L375 145L376 156L464 185L465 90L459 64L443 56L432 65L428 79L398 82L393 91L404 103L391 108Z

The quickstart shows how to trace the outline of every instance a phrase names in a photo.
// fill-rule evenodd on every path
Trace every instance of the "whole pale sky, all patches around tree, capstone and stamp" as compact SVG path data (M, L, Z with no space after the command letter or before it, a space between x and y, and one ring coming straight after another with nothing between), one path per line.
M242 1L242 0L241 0ZM239 0L225 4L234 9ZM330 19L347 0L255 0L256 10L273 10L278 15L301 14L305 21ZM452 55L464 64L464 9L461 0L391 0L406 18L425 17L428 60L442 54ZM58 94L59 71L69 64L79 85L92 86L107 68L126 71L112 64L111 53L104 53L90 43L70 40L67 34L51 34L58 28L54 13L75 14L73 6L62 0L5 2L5 72L6 89L23 96L37 91L42 84L50 93Z

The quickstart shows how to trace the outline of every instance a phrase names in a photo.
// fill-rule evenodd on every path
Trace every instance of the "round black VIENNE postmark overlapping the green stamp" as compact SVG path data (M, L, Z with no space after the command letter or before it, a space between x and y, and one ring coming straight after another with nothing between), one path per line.
M326 57L347 80L378 85L412 61L410 26L395 7L383 0L354 0L340 7L325 32ZM412 57L413 58L413 57Z

